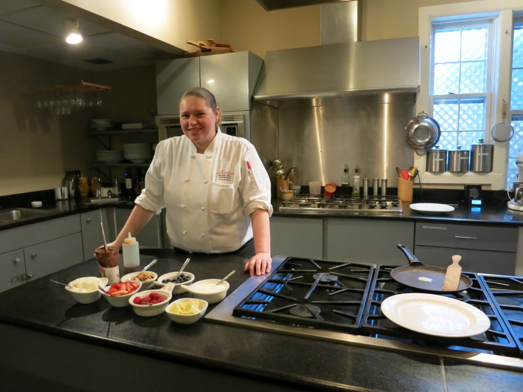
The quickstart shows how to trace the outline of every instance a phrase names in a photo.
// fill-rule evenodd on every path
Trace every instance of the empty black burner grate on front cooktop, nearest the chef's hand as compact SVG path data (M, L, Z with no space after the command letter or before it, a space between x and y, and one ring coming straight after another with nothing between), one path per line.
M287 258L233 316L358 333L374 266Z

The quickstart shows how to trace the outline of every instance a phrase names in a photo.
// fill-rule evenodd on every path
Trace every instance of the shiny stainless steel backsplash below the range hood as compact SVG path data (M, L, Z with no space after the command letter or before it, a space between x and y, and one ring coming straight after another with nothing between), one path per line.
M278 109L256 105L251 140L273 182L270 161L278 157L287 167L298 168L291 176L296 185L321 181L339 186L347 164L351 176L358 166L361 178L386 178L389 187L397 187L395 167L406 169L414 162L404 137L405 125L414 116L412 101L362 98L350 105Z

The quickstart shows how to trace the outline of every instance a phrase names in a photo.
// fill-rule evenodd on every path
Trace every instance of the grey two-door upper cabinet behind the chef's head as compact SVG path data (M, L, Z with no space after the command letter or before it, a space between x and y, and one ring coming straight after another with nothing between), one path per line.
M250 109L263 59L251 52L213 54L158 62L158 114L177 114L178 103L191 87L204 87L222 112Z

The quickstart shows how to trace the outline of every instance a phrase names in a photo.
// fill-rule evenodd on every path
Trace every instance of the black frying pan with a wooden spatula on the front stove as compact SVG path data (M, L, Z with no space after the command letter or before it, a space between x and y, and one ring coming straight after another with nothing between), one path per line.
M445 280L445 273L447 272L446 268L425 266L406 246L398 244L397 248L405 253L408 259L408 266L397 267L391 271L391 277L396 282L413 287L414 289L436 294L459 293L472 286L470 278L467 275L461 274L458 290L444 291L443 281Z

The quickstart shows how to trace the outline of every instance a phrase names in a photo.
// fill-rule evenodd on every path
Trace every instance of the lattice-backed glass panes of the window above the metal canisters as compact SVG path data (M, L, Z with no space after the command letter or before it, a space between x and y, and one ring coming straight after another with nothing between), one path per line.
M470 149L485 139L489 23L434 26L431 97L441 148Z

